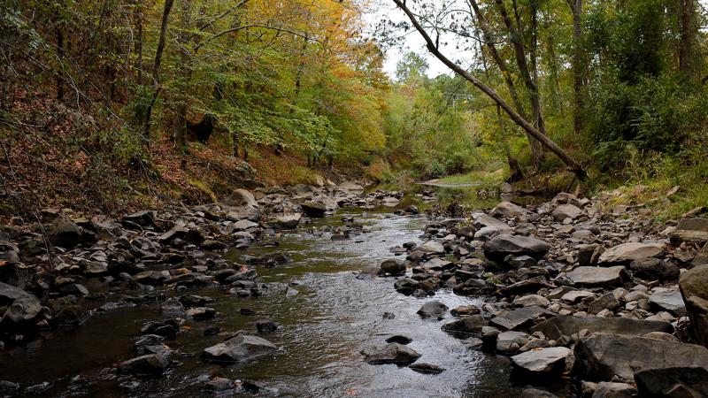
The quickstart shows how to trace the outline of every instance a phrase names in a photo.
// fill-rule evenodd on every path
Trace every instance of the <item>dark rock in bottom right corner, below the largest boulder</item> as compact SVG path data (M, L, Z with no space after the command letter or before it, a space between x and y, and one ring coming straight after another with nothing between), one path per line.
M704 397L708 396L708 369L647 369L635 373L635 383L642 397Z

